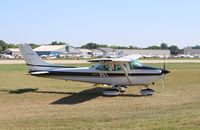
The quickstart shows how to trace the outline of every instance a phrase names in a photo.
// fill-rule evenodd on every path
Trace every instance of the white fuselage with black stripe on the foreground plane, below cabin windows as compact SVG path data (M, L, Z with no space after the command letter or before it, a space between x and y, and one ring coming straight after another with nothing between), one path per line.
M128 76L131 82L127 80L127 77L122 70L99 71L93 67L52 69L49 70L48 73L35 76L109 85L147 86L159 80L162 73L161 69L155 68L128 70Z

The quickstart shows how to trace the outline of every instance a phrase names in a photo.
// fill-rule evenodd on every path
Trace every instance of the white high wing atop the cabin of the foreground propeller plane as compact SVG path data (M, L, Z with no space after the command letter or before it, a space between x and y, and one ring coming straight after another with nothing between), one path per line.
M100 59L94 59L94 60L89 60L88 62L99 62L99 63L105 63L105 62L130 62L133 60L137 60L141 58L142 55L128 55L124 56L121 58L100 58Z

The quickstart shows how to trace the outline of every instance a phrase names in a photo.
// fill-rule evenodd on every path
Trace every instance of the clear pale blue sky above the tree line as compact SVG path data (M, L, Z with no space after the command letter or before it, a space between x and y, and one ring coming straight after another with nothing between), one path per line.
M200 44L199 0L0 0L0 39L147 47Z

